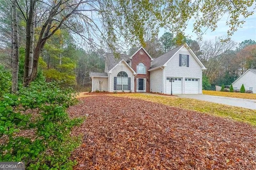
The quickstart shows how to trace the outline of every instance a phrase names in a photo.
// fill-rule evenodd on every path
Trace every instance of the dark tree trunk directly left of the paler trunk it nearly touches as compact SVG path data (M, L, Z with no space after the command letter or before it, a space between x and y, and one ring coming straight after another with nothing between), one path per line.
M30 9L28 14L28 19L26 21L26 52L25 52L25 60L24 60L24 75L23 75L23 86L26 87L29 84L29 59L30 59L30 46L31 46L31 27L33 18L34 18L34 8L35 8L35 1L30 0ZM32 52L33 53L33 52Z

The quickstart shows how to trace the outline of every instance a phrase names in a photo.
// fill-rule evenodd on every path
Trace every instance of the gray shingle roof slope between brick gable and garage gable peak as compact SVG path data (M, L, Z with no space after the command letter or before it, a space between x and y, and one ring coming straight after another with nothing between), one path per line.
M156 59L154 59L154 61L152 61L150 69L154 69L156 67L160 67L164 65L182 46L183 45L180 45L172 49L171 51L161 55L160 57L157 57Z

